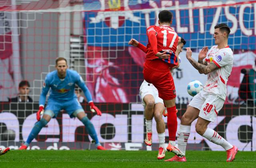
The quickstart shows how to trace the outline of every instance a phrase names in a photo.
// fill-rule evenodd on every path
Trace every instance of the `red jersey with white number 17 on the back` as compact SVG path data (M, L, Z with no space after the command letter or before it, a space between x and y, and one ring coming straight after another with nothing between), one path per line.
M177 45L178 45L178 35L170 26L149 26L147 28L147 36L149 34L155 34L157 39L157 46L150 44L148 40L146 59L159 59L159 57L155 56L155 49L158 52L167 51L170 53L170 57L168 59L162 59L163 61L174 64L172 66L178 65L178 59L175 55ZM157 47L157 48L156 48Z

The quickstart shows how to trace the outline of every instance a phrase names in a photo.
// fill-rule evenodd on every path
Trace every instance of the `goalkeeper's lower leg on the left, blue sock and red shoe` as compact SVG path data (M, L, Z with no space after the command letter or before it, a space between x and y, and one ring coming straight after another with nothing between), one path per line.
M40 121L38 121L34 127L32 128L27 141L20 146L19 150L25 150L26 148L28 148L28 145L30 144L30 142L36 138L36 136L38 135L38 133L40 132L40 130L46 126L46 124L48 123L48 121L46 121L46 119L42 118Z

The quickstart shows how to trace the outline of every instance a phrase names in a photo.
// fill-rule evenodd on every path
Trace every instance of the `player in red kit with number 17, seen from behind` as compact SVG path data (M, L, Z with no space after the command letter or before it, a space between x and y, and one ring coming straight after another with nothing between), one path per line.
M164 100L168 111L167 126L169 130L168 151L178 156L184 154L175 146L177 131L176 114L176 90L170 69L179 66L178 54L175 54L178 45L178 36L170 27L172 24L172 13L163 10L158 14L159 26L147 28L148 45L146 50L146 61L144 63L143 75L148 83L152 83L158 90L158 95Z

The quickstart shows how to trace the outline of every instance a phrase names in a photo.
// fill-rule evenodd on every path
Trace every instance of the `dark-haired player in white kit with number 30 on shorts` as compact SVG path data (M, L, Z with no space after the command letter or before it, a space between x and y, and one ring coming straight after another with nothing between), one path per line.
M213 122L226 99L226 84L233 66L233 52L228 47L230 28L226 24L214 27L215 44L210 51L204 47L198 54L198 62L192 57L192 51L187 48L186 57L199 73L207 74L208 79L200 93L193 97L185 114L182 116L178 130L178 148L185 154L186 144L190 134L191 123L196 122L196 132L209 141L222 146L227 152L227 162L232 162L238 148L227 142L216 131L208 128ZM204 59L206 58L206 59ZM166 161L186 162L186 157L174 156Z

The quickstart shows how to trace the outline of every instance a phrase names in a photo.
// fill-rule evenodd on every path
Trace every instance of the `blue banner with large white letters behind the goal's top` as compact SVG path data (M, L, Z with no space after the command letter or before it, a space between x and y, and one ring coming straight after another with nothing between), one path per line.
M105 3L102 6L100 2ZM150 3L141 0L141 3L138 4L138 0L91 0L90 2L84 0L84 6L87 8L92 4L98 4L98 8L92 10L107 10L106 12L85 12L87 44L97 47L124 47L128 46L128 41L131 38L135 38L146 45L146 28L157 24L157 15L160 11L158 8L164 7L162 2L164 1L155 0ZM226 2L222 3L224 5ZM127 6L124 7L125 5ZM175 6L177 7L175 1L170 1L168 7ZM188 1L180 1L179 6L188 6ZM173 13L172 27L179 36L188 42L187 46L192 48L200 48L205 45L211 47L214 45L214 29L210 29L211 26L226 23L232 28L228 42L232 49L256 49L256 18L254 18L256 4L202 9L198 6L196 2L192 2L192 16L189 15L188 9L180 9L178 13L176 10L171 10ZM130 10L127 10L127 7ZM140 9L141 11L139 11ZM201 20L200 16L202 16Z

